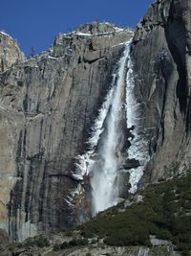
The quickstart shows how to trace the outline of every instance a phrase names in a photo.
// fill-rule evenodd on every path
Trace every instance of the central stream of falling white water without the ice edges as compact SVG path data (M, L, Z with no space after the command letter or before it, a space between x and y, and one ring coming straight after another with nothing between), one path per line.
M99 148L100 159L90 168L90 172L93 175L91 184L96 212L116 204L118 199L117 170L120 165L120 157L117 148L121 133L119 121L121 118L122 95L129 51L130 43L127 43L124 54L118 63L117 81L114 84L116 86L113 89L113 100L105 124L106 134Z

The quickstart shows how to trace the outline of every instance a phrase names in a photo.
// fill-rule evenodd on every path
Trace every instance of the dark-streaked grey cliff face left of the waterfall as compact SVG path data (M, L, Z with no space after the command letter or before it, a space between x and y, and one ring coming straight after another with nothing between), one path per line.
M13 240L77 221L67 202L80 183L73 177L75 157L86 151L132 35L109 24L87 25L0 74L0 226Z

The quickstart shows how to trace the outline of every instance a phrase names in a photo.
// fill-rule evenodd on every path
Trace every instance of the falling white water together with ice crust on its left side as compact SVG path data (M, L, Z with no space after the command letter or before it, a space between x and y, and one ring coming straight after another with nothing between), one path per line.
M109 91L99 110L92 136L90 150L78 157L77 178L91 176L94 214L117 203L117 169L120 163L117 155L120 130L122 96L125 86L125 70L130 52L130 42L126 43L123 56L118 62L117 74L113 76ZM96 148L98 148L96 150Z

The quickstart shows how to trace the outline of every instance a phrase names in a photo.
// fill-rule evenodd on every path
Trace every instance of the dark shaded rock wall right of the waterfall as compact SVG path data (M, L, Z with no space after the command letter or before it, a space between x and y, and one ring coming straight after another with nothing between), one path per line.
M152 157L145 170L147 181L191 168L190 10L188 0L158 0L134 37L135 94Z

